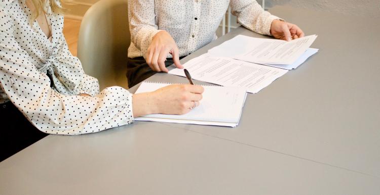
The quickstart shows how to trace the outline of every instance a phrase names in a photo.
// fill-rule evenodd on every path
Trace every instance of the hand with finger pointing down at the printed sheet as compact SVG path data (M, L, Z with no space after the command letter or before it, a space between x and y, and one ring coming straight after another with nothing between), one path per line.
M146 53L146 63L157 72L168 72L165 61L168 54L173 56L173 62L177 68L183 68L179 62L179 50L173 37L166 31L160 31L155 36L148 47Z

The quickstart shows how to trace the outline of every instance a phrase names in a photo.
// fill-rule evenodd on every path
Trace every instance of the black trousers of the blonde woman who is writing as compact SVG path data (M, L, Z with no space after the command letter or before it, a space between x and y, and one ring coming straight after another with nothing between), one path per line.
M0 162L47 136L11 103L0 104Z

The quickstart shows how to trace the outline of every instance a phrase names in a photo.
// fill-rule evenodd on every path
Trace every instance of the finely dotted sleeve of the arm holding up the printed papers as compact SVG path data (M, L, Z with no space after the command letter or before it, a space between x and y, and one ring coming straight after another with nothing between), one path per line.
M264 11L255 0L231 0L230 6L241 25L260 34L271 35L272 21L279 19Z

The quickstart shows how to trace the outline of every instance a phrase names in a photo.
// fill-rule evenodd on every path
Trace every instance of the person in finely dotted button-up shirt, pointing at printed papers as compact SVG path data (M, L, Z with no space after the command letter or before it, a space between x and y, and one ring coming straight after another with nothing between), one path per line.
M303 36L296 25L265 12L255 0L128 0L132 43L127 78L133 86L212 40L228 7L244 27L275 38Z

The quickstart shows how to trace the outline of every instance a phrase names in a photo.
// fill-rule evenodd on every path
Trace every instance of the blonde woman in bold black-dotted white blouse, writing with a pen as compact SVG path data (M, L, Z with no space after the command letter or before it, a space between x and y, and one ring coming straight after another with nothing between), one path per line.
M151 113L184 114L202 99L203 87L195 85L99 92L97 79L68 51L61 10L60 0L0 0L0 161L47 133L77 135Z

